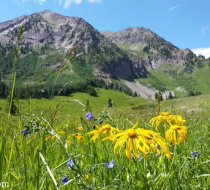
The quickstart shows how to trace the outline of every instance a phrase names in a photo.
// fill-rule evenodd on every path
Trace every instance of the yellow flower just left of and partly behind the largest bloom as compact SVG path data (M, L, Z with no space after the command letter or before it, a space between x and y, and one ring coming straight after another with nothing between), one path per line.
M97 125L95 125L98 130L94 130L94 131L91 131L89 133L87 133L88 135L93 135L93 137L90 139L91 141L93 141L95 143L96 140L99 139L99 134L102 133L102 134L105 134L107 136L107 133L109 132L110 135L113 135L113 132L122 132L121 130L119 129L116 129L114 127L112 127L111 125L109 124L106 124L102 127L98 127Z

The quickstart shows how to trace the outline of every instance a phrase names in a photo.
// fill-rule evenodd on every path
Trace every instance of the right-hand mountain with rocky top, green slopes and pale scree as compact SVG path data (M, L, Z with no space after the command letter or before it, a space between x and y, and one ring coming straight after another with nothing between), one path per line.
M189 92L210 92L203 76L196 73L203 71L208 77L209 61L196 56L189 49L179 49L149 29L142 27L127 28L118 32L101 32L110 41L127 53L140 57L145 62L147 75L133 83L129 88L140 93L142 97L151 97L158 91L169 91L176 95L187 95ZM205 69L203 69L205 68ZM196 77L195 77L196 76ZM142 86L143 85L143 86ZM207 90L209 89L209 90Z

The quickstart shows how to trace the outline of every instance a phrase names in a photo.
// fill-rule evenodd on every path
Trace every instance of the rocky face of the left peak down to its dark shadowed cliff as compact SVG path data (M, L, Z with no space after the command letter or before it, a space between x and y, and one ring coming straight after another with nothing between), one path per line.
M82 18L62 16L51 11L21 16L0 23L0 43L3 46L14 45L21 25L24 25L25 31L20 43L25 40L27 47L48 45L66 52L82 41L79 51L84 55L92 55L90 62L92 61L93 74L97 77L129 79L134 75L138 77L145 75L145 68L141 62L129 59L123 50Z

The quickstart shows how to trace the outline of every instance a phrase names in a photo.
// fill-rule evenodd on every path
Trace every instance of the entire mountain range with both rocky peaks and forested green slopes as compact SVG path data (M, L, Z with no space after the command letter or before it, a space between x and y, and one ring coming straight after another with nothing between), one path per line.
M98 80L104 87L124 88L127 92L131 89L145 98L154 98L158 91L180 95L197 90L193 85L182 84L183 80L208 65L207 60L189 49L181 50L149 29L98 32L82 18L47 10L0 23L0 79L7 84L21 25L24 33L20 43L25 43L16 67L18 86L28 84L49 91L61 67L60 59L80 41L74 55L82 55L59 75L57 91L66 83L69 89L73 84L78 89L84 80L97 86L100 82L94 81Z

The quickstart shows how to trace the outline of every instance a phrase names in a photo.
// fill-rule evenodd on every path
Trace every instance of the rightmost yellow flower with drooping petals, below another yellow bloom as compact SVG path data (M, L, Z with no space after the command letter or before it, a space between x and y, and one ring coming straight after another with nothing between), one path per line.
M179 138L177 139L177 137ZM173 144L178 144L179 142L184 142L187 136L187 127L173 125L165 132L165 139Z

